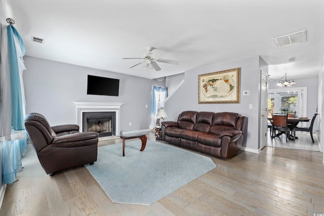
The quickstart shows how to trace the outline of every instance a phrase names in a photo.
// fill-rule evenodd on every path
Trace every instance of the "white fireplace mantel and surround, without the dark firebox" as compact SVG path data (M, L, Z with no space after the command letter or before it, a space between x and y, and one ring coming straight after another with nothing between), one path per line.
M116 112L116 136L120 133L120 107L124 103L80 102L74 101L76 107L76 124L83 131L82 117L84 112Z

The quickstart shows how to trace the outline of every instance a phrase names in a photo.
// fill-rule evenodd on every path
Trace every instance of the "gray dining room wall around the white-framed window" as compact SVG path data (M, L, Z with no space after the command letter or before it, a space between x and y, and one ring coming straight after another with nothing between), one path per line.
M294 79L296 85L293 88L303 88L307 87L307 117L312 118L316 109L318 107L318 78L317 77L309 77L302 79ZM277 87L276 84L278 81L269 81L268 89L282 89L284 87ZM320 110L317 110L318 113ZM319 116L316 117L313 127L313 133L318 130L318 120ZM307 123L309 125L310 123Z

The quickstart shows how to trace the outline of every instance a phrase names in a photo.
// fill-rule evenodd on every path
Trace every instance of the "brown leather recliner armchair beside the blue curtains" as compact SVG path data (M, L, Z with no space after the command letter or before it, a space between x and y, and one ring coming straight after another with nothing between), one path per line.
M98 133L79 132L77 124L50 126L39 113L25 117L25 127L46 174L97 161Z

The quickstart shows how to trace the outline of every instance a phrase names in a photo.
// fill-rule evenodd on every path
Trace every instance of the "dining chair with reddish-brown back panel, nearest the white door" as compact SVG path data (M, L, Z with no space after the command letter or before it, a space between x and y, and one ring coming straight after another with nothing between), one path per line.
M285 133L286 143L288 142L289 132L291 129L288 127L288 113L272 113L272 138L275 138L275 132L281 134Z

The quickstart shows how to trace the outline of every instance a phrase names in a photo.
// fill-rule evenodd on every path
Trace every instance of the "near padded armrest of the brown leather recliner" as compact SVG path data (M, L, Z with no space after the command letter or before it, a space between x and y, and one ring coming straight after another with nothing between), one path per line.
M99 134L97 132L84 132L84 133L68 134L68 135L54 138L52 144L57 145L57 144L67 143L67 146L65 146L65 147L69 148L69 147L75 147L75 145L69 146L68 143L80 141L80 146L84 146L85 142L81 142L81 141L98 139L98 136L99 136ZM61 147L63 147L63 146L61 146Z

